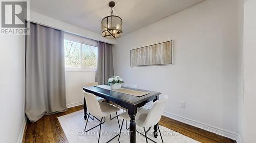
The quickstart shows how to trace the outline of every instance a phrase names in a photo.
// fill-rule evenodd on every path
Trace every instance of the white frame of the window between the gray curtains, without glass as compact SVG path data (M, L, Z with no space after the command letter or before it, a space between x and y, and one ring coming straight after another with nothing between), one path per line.
M73 42L77 42L77 43L80 43L81 44L81 47L80 47L80 67L79 68L72 68L72 67L66 67L66 64L65 64L65 71L77 71L77 72L96 72L97 70L97 67L96 68L83 68L82 67L82 45L89 45L89 46L93 46L93 47L98 47L98 44L96 45L93 45L93 44L88 44L87 42L84 42L83 40L81 40L83 37L80 37L80 36L69 36L70 34L65 34L63 40L69 40L69 41L73 41ZM76 37L79 37L76 39ZM78 40L80 39L80 40ZM87 38L85 38L87 39ZM91 40L91 39L90 39ZM93 40L94 41L94 40ZM63 41L64 42L64 41ZM63 45L65 46L65 45ZM64 47L63 47L64 48ZM98 55L98 54L97 54ZM97 56L97 61L96 61L96 64L98 65L98 56Z

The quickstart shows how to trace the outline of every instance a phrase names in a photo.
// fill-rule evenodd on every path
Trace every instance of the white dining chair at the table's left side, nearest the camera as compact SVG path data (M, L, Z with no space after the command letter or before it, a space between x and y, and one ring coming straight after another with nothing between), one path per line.
M90 114L100 122L99 125L97 125L95 127L92 127L91 129L87 130L87 124L88 124L88 121L89 121L89 116L88 116L87 121L86 121L86 127L84 128L84 131L88 132L88 131L90 131L90 130L99 126L99 137L98 137L98 143L99 143L100 134L101 134L101 132L100 132L101 131L101 125L106 121L105 117L109 116L109 115L111 115L112 113L115 113L115 112L116 112L116 115L117 115L117 111L119 111L120 108L112 106L112 105L110 105L106 102L98 102L98 100L97 100L97 98L94 94L88 93L86 91L83 91L83 95L86 98L87 109L89 110ZM97 117L101 117L101 119L98 119ZM104 118L104 122L102 122L103 118ZM118 125L119 125L118 117L117 117L117 121L118 121ZM119 129L120 129L120 125L119 125ZM108 142L110 142L111 140L109 140Z

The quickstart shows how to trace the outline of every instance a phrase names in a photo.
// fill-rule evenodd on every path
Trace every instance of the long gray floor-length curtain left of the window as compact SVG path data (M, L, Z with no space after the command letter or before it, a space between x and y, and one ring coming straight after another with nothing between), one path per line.
M30 35L26 36L25 112L31 122L67 110L64 58L63 33L30 22Z

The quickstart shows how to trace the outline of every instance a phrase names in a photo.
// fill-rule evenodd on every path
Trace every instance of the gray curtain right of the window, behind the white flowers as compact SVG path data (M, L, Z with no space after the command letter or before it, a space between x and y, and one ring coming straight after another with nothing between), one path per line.
M114 76L112 45L99 42L95 81L99 84L108 84L108 79L112 76Z

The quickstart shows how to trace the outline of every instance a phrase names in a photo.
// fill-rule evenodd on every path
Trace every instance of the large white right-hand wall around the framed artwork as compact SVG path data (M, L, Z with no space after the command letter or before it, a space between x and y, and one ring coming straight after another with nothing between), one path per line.
M174 65L130 67L131 49L172 39ZM237 40L237 1L208 0L119 38L114 73L125 83L169 95L165 115L236 138Z

